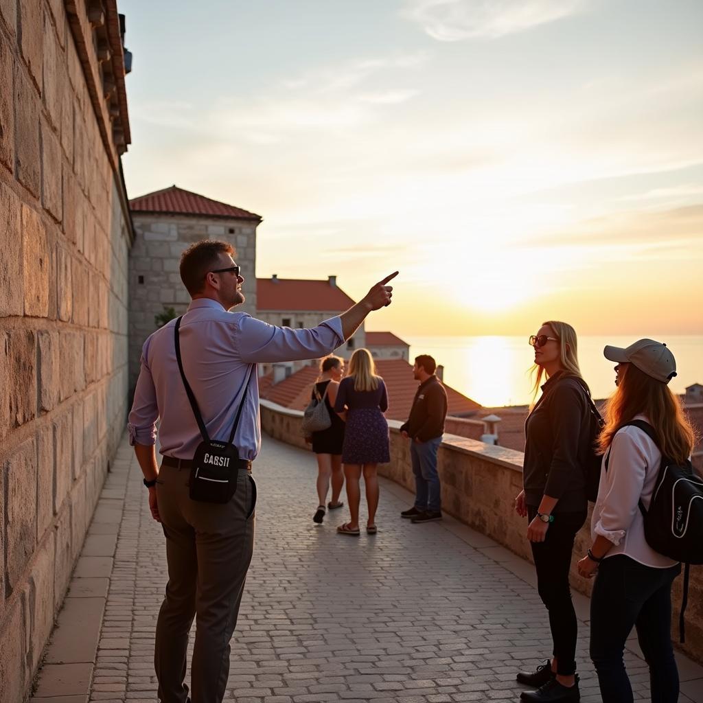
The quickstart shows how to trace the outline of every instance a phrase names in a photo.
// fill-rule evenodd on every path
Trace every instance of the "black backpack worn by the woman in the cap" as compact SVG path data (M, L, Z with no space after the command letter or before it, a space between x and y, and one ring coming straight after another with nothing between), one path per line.
M627 425L639 427L659 446L657 434L649 423L632 420ZM605 459L606 471L609 459L610 453ZM703 479L695 473L689 459L680 465L662 456L650 508L645 509L641 500L639 508L644 518L647 544L655 552L684 564L681 615L678 620L681 642L684 642L683 613L688 603L690 565L703 564Z

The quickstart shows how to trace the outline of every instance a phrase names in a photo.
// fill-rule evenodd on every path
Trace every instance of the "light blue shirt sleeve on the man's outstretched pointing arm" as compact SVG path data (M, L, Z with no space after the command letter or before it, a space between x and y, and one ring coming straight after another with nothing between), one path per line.
M331 354L344 342L339 317L325 320L314 328L293 330L243 315L235 330L237 348L247 363L318 359Z

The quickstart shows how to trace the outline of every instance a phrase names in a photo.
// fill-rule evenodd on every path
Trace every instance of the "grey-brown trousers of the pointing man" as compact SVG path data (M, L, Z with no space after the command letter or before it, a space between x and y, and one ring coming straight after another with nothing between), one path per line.
M156 625L154 665L162 703L219 703L229 676L229 641L237 624L254 548L254 479L240 471L229 503L188 497L190 470L159 470L156 494L166 536L169 581ZM197 616L197 617L196 617ZM195 622L188 698L188 633Z

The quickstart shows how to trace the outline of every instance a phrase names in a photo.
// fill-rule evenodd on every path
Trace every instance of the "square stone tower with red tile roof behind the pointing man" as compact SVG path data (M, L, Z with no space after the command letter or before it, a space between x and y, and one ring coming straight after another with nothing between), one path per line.
M171 314L191 302L183 287L181 253L202 239L225 240L236 249L246 302L238 310L255 314L259 215L182 188L165 188L130 201L134 245L129 255L129 381L136 385L141 348Z

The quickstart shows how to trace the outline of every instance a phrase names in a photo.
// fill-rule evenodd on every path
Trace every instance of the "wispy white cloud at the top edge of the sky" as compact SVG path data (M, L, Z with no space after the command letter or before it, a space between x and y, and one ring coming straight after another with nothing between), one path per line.
M438 41L498 39L581 11L586 0L411 0L406 16Z

